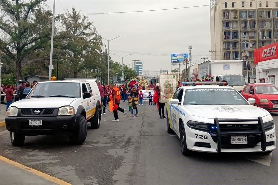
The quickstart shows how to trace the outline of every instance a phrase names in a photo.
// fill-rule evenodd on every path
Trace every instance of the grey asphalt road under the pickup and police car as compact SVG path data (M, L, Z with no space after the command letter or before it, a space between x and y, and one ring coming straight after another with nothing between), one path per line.
M120 107L127 107L127 103ZM155 108L145 104L139 106L139 112ZM278 126L278 114L273 117ZM103 115L100 128L89 128L81 146L70 145L66 136L35 136L27 137L23 147L13 147L9 132L2 131L0 155L72 184L278 182L277 150L270 155L194 153L185 157L180 152L178 137L167 133L166 120L159 119L157 110L137 118L121 117L120 122L112 119L110 113ZM2 178L5 177L0 174L0 182Z

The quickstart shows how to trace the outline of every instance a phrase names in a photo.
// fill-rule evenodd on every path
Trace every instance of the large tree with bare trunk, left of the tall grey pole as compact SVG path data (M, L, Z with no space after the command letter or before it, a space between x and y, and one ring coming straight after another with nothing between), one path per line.
M0 50L15 61L16 78L21 79L22 62L50 40L50 10L43 10L47 0L0 0Z

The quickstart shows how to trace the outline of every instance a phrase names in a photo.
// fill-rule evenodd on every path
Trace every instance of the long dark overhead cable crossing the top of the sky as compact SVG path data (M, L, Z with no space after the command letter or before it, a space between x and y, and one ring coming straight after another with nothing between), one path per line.
M242 2L242 1L234 1L233 3ZM232 2L227 2L229 4ZM218 3L218 5L225 3ZM210 5L195 5L195 6L186 6L186 7L178 7L178 8L164 8L164 9L155 9L155 10L137 10L137 11L125 11L125 12L101 12L101 13L80 13L81 15L100 15L100 14L123 14L123 13L137 13L137 12L155 12L155 11L165 11L165 10L177 10L177 9L185 9L185 8L198 8L198 7L206 7ZM69 13L64 13L69 14ZM56 14L59 15L59 14Z

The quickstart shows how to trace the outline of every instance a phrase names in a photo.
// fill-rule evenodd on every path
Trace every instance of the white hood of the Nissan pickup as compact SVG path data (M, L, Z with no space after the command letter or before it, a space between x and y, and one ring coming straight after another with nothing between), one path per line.
M12 103L17 108L59 108L69 106L76 98L27 98Z

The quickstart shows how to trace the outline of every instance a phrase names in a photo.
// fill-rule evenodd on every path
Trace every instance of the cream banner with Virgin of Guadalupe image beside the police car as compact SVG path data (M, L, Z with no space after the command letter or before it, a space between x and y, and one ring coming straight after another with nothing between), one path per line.
M157 77L160 86L160 102L167 103L167 99L173 96L178 86L178 73L159 73Z

